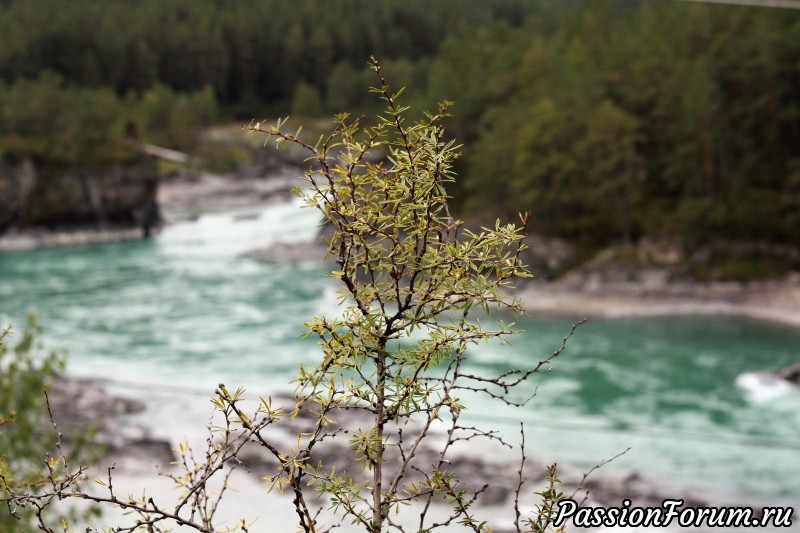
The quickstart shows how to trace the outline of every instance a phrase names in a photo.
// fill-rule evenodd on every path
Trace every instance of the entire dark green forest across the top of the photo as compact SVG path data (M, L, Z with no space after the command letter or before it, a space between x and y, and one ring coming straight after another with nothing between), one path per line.
M455 205L538 233L800 245L800 11L671 0L0 2L0 157L102 167L131 137L455 102ZM47 14L44 16L43 14Z

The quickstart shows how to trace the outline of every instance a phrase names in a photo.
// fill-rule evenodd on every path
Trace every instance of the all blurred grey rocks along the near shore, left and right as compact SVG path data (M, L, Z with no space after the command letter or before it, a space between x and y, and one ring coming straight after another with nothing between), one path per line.
M174 460L172 450L177 448L177 442L153 438L148 428L131 423L131 415L141 413L145 408L144 404L110 395L100 382L73 380L63 376L59 376L52 385L50 399L54 417L65 435L69 435L70 431L85 431L90 426L95 428L97 441L104 446L107 454L97 461L97 470L91 475L103 476L105 466L114 464L117 476L130 478L128 481L135 479L140 483L148 483L148 479L155 479L156 468L161 472L170 472L175 468L171 463ZM292 398L284 396L274 400L276 406L284 405L287 410L291 410ZM369 423L368 415L357 410L333 413L331 417L339 421L342 428L350 434L359 426ZM295 445L297 434L309 430L313 423L314 417L307 411L301 412L296 418L286 417L272 426L268 433L269 439L278 445ZM403 429L407 435L411 435L415 427L412 424ZM431 430L429 440L418 450L414 463L416 468L409 470L406 482L419 479L420 472L439 463L438 445L446 438L445 428L434 427ZM347 471L355 481L366 480L370 472L354 464L352 452L347 446L348 440L347 433L326 439L316 448L313 461L322 461L326 468L335 467L337 472ZM256 483L275 471L276 463L271 454L256 443L247 444L239 459L240 469L249 474ZM618 460L624 461L624 457ZM544 464L539 458L530 456L525 461L522 469L522 476L526 480L522 492L523 513L533 512L531 505L535 502L530 495L546 486ZM390 459L385 464L385 469L391 472L398 466L396 460ZM478 516L492 518L494 531L516 531L513 526L513 505L519 482L518 450L507 450L489 441L470 440L453 447L445 468L460 479L461 489L481 491L475 511ZM684 505L695 507L745 505L758 508L763 505L763 502L730 501L714 494L670 487L662 480L632 471L617 469L610 472L600 468L588 478L584 474L585 471L574 467L558 467L560 490L576 501L585 501L586 505L619 506L623 499L630 499L635 506L658 507L665 498L682 498ZM147 485L141 488L147 489ZM263 493L257 491L257 494L231 493L227 498L251 502L243 508L252 511L251 504L255 505L256 500L264 497L266 496ZM327 506L323 500L317 503ZM291 504L286 500L285 505L288 513Z

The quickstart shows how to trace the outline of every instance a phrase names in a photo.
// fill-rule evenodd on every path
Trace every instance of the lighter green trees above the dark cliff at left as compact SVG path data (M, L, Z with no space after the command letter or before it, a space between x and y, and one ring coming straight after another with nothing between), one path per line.
M189 149L216 116L213 92L156 86L141 98L69 86L53 73L0 83L0 157L104 167L138 157L135 141Z

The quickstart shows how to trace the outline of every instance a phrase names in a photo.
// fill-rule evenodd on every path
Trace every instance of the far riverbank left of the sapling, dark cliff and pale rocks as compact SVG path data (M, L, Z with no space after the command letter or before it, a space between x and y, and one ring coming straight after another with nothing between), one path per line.
M203 211L285 201L303 173L304 155L264 150L238 126L204 132L197 151L146 145L104 169L0 158L0 252L146 238Z

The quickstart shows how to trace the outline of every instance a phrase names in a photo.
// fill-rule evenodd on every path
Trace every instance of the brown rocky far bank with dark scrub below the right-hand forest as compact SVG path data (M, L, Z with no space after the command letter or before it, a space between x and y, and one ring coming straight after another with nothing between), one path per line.
M532 250L534 272L543 275L518 293L531 314L733 315L800 326L800 250L790 246L719 242L690 253L645 240L581 263L562 242L535 239ZM553 268L561 275L549 275Z

